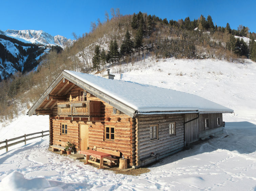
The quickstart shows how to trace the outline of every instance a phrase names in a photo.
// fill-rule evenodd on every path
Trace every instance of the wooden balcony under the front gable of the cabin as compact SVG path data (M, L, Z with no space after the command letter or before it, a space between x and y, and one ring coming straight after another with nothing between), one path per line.
M58 116L100 116L100 101L58 103Z

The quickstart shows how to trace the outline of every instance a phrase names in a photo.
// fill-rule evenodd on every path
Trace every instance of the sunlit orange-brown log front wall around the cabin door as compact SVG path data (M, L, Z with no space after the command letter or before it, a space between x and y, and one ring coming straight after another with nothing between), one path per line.
M74 86L66 94L66 101L69 101L70 94L74 101L79 101L79 91L82 89ZM128 160L130 166L135 165L135 119L130 116L117 111L113 113L113 107L99 98L87 93L87 100L101 101L101 114L98 121L72 121L72 120L58 120L57 105L53 108L53 116L51 116L52 129L53 129L53 144L57 144L58 140L61 141L75 141L76 148L79 150L79 124L89 125L88 144L92 149L94 146L111 149L121 152ZM67 124L67 135L61 135L61 123ZM104 130L105 126L115 127L115 140L105 140ZM51 127L50 127L51 129Z

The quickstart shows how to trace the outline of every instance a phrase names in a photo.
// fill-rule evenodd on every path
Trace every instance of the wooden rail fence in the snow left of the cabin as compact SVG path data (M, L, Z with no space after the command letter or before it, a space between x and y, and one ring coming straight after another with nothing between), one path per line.
M37 132L37 133L31 133L31 134L27 134L27 135L25 134L25 135L22 135L22 136L19 136L19 137L15 137L15 138L12 138L12 139L5 139L5 141L1 141L0 142L0 145L5 143L4 146L0 146L0 150L5 148L6 152L8 152L8 147L9 146L13 146L13 145L16 145L16 144L19 144L19 143L22 143L22 142L24 142L25 143L24 145L26 145L26 141L50 135L49 133L48 134L44 134L44 133L47 133L47 132L49 132L49 130L48 131L41 131L41 132ZM32 136L32 135L36 135L36 134L41 134L41 135L40 136L36 136L36 137L27 138L28 136ZM8 144L8 142L15 141L15 140L21 139L23 137L24 137L24 140L20 140L20 141Z

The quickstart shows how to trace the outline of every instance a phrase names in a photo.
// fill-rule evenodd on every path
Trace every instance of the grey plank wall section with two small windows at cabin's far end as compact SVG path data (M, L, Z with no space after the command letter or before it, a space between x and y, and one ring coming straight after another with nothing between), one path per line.
M217 125L217 117L220 118L220 125ZM219 128L222 127L222 123L223 123L223 119L222 119L222 113L209 113L209 114L200 114L199 115L199 133L203 132L205 130L209 130L209 129L205 129L204 126L204 119L205 118L209 118L209 129L215 129L215 128Z

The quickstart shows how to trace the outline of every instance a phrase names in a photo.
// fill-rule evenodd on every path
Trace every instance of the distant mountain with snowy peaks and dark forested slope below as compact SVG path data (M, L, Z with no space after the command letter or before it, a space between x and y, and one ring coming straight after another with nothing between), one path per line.
M33 70L39 64L39 58L48 53L51 46L65 49L74 42L43 30L0 30L0 81L18 71L25 73Z

